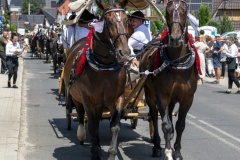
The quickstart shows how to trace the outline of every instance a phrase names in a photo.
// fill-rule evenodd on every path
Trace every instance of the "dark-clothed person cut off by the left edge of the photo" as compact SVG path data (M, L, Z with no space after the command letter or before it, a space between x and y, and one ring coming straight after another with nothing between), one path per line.
M1 73L4 74L7 72L6 66L6 45L8 43L8 32L3 31L2 37L0 38L0 58L1 58Z

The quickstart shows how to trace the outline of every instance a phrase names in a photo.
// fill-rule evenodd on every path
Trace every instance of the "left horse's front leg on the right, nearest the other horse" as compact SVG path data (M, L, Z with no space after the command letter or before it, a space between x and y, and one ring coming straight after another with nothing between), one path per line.
M112 133L112 141L108 149L108 160L114 160L117 155L117 140L120 132L120 120L122 107L124 102L124 95L120 96L116 102L116 107L109 108L111 113L110 130Z

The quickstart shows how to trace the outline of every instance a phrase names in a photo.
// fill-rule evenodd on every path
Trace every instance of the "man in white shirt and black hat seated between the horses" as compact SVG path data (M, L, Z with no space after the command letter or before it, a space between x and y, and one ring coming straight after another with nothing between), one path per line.
M128 40L128 46L132 57L135 57L144 48L144 45L152 40L149 28L144 25L145 20L141 11L136 11L130 16L130 25L134 29L134 33ZM132 64L139 67L139 58L133 58Z

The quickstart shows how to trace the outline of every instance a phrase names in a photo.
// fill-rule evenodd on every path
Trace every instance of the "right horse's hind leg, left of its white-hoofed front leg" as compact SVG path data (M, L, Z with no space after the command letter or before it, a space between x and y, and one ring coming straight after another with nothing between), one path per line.
M153 137L151 137L151 140L154 144L152 149L152 157L160 157L161 156L161 139L158 133L158 110L156 108L156 102L155 102L155 96L154 93L149 90L149 88L145 87L145 97L146 97L146 103L149 106L149 113L150 113L150 122L153 123Z

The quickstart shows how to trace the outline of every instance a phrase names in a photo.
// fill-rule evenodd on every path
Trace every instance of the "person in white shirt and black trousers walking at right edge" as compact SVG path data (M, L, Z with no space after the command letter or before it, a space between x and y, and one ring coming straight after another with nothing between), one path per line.
M235 69L237 68L237 55L238 55L238 48L236 46L236 39L230 38L230 47L227 52L223 52L227 56L227 64L228 64L228 89L226 90L226 93L231 93L232 84L233 82L236 84L238 91L236 94L240 94L240 84L238 81L238 78L235 76Z

